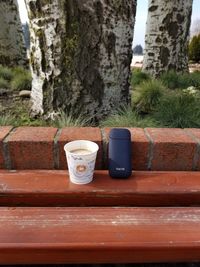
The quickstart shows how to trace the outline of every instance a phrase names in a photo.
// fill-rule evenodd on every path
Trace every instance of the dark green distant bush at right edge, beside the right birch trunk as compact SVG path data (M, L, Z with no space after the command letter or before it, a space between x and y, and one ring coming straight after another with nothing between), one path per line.
M200 34L193 36L189 44L189 59L193 62L200 62Z

